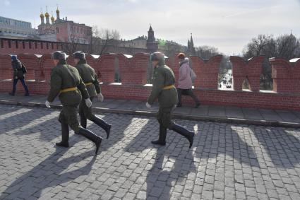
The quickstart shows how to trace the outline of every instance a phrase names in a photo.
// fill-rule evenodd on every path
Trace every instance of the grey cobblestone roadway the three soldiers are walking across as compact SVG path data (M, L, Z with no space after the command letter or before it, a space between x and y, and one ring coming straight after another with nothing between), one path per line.
M60 140L59 110L0 105L0 199L300 199L300 130L178 120L193 148L155 118L100 115L111 138ZM95 133L104 131L89 124Z

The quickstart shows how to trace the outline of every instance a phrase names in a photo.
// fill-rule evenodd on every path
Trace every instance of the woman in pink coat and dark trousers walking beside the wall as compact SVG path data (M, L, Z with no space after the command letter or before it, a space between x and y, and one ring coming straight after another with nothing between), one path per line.
M177 107L181 107L181 95L188 95L193 98L196 103L196 108L200 106L200 102L196 95L193 93L193 81L191 78L191 68L189 59L186 58L184 53L180 53L177 55L179 58L179 81L177 86L178 91L178 103Z

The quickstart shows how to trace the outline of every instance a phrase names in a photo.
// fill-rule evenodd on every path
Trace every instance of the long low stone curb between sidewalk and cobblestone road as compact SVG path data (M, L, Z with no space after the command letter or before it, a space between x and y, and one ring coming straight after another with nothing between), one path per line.
M0 100L1 105L18 105L26 107L43 107L46 106L39 102L18 102L10 100ZM51 105L52 109L60 109L61 105ZM130 114L130 115L139 115L145 117L155 117L156 112L151 111L141 111L141 110L120 110L120 109L110 109L104 107L94 107L94 112L97 113L112 113L112 114ZM193 116L189 114L172 114L174 119L184 119L184 120L193 120L200 122L216 122L216 123L227 123L227 124L246 124L246 125L256 125L264 127L285 127L299 129L300 123L293 122L277 122L277 121L266 121L266 120L257 120L257 119L240 119L240 118L227 118L227 117L209 117L209 116Z

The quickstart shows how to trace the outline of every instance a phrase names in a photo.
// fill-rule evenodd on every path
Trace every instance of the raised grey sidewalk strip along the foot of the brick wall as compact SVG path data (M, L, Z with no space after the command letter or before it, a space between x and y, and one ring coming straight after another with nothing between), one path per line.
M0 93L0 103L8 105L23 105L44 107L45 95L10 96L8 93ZM61 104L56 98L53 108ZM157 112L157 105L150 109L145 107L145 102L136 100L105 99L104 102L94 102L95 112L136 114L153 117ZM300 112L284 110L263 110L246 107L227 107L215 105L201 105L194 108L191 105L176 107L173 117L176 119L188 119L205 122L225 122L234 124L253 124L274 127L300 128Z

